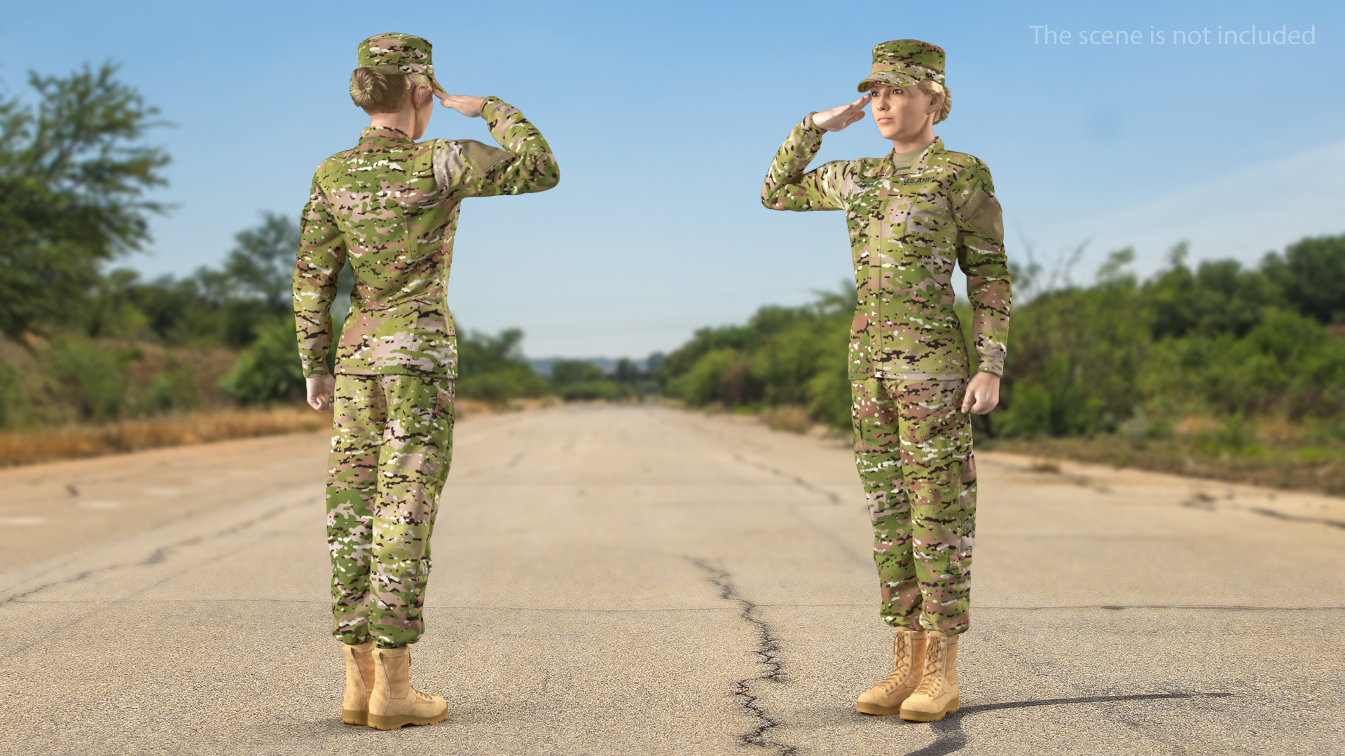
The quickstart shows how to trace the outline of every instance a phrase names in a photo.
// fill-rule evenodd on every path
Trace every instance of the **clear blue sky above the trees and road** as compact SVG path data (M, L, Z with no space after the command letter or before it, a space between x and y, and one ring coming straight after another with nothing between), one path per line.
M174 157L160 199L176 209L125 264L186 274L218 264L261 213L297 217L312 169L354 144L360 39L425 36L445 87L518 106L561 164L550 192L467 200L455 252L460 326L521 327L531 356L642 356L850 277L839 213L768 211L759 191L790 129L853 100L888 39L947 51L954 109L935 133L990 165L1011 260L1049 268L1087 242L1073 272L1087 281L1123 246L1147 274L1182 239L1196 260L1255 262L1345 231L1340 3L375 7L22 4L0 19L0 91L22 94L30 69L122 63L176 124L151 139ZM1069 44L1032 28L1044 24ZM1219 43L1254 24L1313 43ZM1139 44L1115 44L1118 31ZM443 109L426 137L491 139ZM829 135L815 165L889 148L866 120Z

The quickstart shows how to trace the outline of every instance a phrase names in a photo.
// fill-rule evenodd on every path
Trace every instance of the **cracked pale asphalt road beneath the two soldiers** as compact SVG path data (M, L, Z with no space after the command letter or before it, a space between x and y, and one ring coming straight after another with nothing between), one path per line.
M845 443L655 406L460 422L413 679L340 724L320 434L0 472L0 753L1345 752L1340 499L983 453L959 714L890 669Z

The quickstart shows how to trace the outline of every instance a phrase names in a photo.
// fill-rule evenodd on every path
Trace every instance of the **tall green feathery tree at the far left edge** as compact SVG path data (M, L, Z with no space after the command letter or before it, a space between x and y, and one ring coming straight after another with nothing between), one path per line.
M0 331L17 338L69 319L101 264L140 249L145 192L168 155L140 144L161 125L117 66L67 77L30 73L36 105L0 100Z

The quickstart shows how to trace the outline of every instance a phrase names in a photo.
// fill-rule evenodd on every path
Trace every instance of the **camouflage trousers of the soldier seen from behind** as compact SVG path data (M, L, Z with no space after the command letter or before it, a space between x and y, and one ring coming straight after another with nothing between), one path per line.
M429 537L452 460L453 381L336 375L327 546L332 635L391 648L425 632Z

